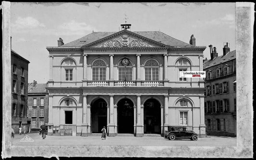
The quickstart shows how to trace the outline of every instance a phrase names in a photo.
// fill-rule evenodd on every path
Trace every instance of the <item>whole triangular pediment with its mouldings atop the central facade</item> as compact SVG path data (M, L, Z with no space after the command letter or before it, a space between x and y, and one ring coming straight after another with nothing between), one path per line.
M159 48L165 44L148 39L134 32L122 30L83 47L90 48Z

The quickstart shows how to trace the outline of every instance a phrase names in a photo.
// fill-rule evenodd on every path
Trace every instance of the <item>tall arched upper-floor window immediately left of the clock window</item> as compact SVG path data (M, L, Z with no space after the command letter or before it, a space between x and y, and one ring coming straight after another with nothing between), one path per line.
M92 64L92 80L104 81L106 80L106 64L103 60L96 60Z

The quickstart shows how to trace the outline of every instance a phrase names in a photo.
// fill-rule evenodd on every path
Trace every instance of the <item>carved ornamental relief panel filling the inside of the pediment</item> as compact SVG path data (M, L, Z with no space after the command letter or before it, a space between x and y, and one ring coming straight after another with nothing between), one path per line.
M136 39L134 37L130 37L127 34L124 34L120 37L111 39L107 42L100 43L97 46L98 48L101 47L156 47L152 44L149 44L142 39Z

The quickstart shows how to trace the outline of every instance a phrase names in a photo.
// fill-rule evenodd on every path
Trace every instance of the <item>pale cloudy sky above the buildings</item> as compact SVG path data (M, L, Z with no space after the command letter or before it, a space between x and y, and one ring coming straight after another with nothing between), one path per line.
M126 16L125 16L126 14ZM223 43L235 44L235 3L11 3L12 50L30 61L28 82L47 83L49 52L91 32L160 31L185 43L194 34L196 46L223 54Z

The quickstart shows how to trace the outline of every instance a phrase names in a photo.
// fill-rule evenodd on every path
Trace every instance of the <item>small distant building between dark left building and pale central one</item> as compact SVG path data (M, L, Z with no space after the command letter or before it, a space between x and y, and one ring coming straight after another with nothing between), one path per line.
M37 84L37 81L28 85L27 123L29 132L37 132L41 125L48 123L48 84Z

